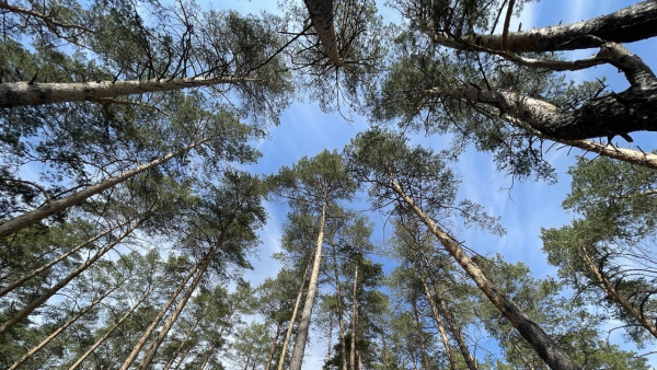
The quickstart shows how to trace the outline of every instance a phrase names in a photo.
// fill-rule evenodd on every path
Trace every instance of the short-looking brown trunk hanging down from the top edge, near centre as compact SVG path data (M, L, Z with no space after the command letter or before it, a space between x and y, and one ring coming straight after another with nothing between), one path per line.
M303 0L326 57L334 66L343 66L333 25L333 0Z

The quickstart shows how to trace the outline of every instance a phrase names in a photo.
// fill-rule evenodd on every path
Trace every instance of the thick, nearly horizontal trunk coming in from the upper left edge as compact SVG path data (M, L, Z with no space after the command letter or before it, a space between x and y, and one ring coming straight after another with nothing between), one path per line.
M250 78L216 77L64 83L3 82L0 84L0 107L81 101L97 102L122 95L256 81L256 79Z

